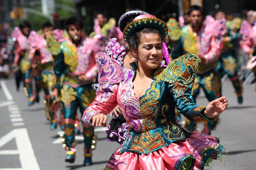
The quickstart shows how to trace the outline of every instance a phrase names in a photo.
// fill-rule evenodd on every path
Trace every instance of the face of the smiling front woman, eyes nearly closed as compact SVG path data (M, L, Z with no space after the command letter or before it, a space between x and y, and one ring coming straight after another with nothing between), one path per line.
M138 64L145 69L156 69L162 60L162 39L156 33L142 34L138 51L135 51Z

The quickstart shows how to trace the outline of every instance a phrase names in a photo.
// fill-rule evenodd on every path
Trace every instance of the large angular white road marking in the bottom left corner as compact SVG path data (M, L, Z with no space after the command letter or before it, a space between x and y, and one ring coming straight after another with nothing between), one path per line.
M22 168L0 168L0 170L40 170L26 128L17 128L8 132L0 138L0 147L4 146L14 138L18 148L17 152L20 155L19 158ZM7 151L0 151L0 155L1 152L2 154L6 154ZM9 152L15 153L15 151Z

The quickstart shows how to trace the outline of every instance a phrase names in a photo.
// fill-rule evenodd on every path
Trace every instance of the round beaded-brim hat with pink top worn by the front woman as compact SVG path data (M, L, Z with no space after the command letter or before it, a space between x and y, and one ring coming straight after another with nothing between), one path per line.
M124 29L123 36L126 43L129 43L129 39L132 33L140 28L146 27L153 27L158 29L162 34L163 41L166 38L166 35L168 33L168 26L166 25L166 23L151 14L142 14L134 18L133 22L128 24Z

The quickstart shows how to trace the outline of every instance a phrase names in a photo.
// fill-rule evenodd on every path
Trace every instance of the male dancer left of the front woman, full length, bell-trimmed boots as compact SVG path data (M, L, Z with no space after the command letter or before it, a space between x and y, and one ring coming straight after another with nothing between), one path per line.
M64 117L64 148L66 150L66 162L74 163L76 157L75 148L75 119L76 111L80 112L92 103L95 93L92 83L97 75L95 58L104 51L106 37L102 35L94 36L94 39L81 38L82 21L80 18L71 17L66 20L67 35L60 43L61 52L57 55L54 64L54 74L56 84L51 97L58 99L60 91L60 102ZM64 81L60 87L60 76L64 74ZM58 90L60 89L60 90ZM94 128L83 123L84 135L84 165L92 164L92 144L94 138Z

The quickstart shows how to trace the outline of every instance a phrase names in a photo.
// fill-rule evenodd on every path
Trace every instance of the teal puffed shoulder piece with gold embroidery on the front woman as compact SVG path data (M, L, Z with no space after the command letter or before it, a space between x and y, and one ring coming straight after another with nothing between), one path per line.
M201 60L193 53L186 53L182 57L172 60L160 73L162 81L174 83L182 82L184 85L194 81Z

